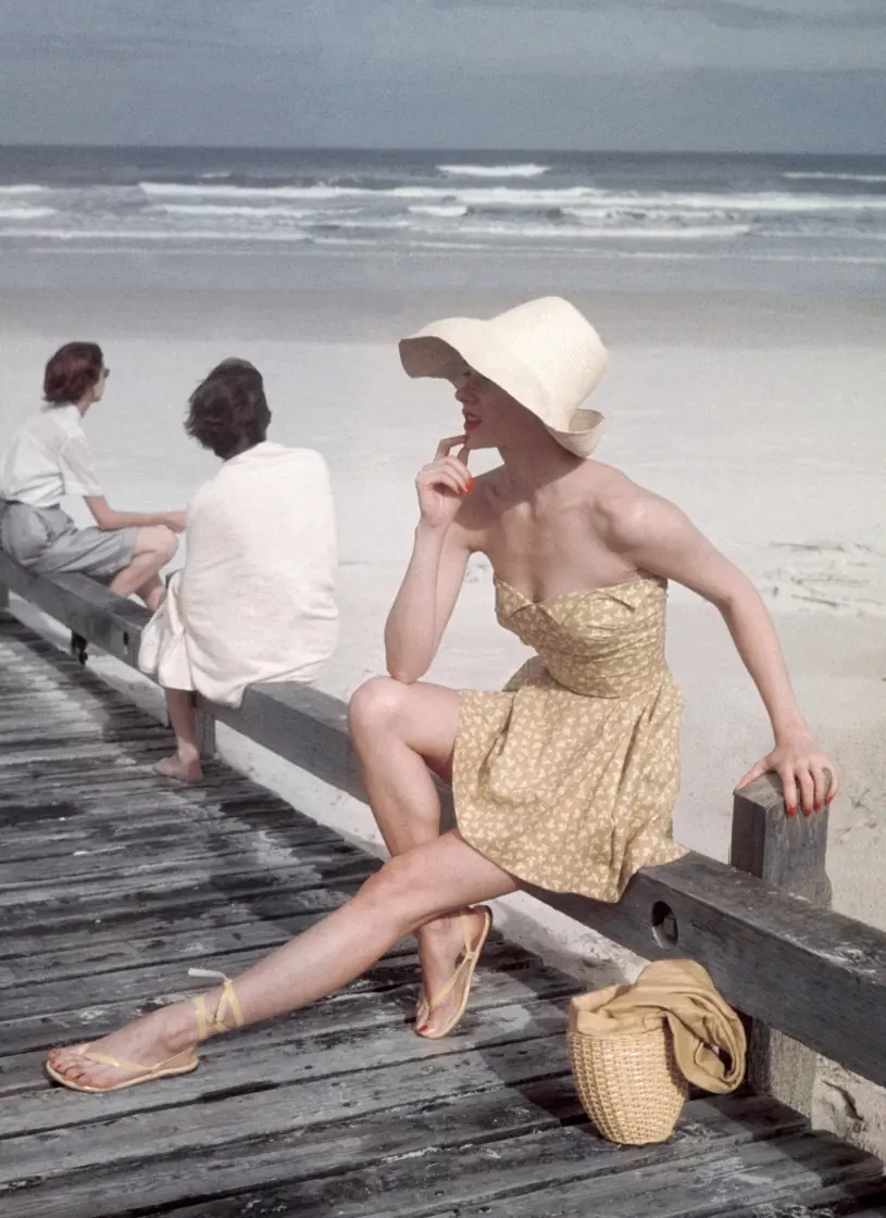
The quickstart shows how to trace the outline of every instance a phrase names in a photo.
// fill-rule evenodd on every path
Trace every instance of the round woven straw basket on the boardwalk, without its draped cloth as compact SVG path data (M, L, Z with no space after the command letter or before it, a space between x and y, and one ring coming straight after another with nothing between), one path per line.
M595 1037L575 1027L573 999L569 1057L587 1116L604 1138L631 1146L667 1141L686 1101L687 1084L674 1056L670 1028L662 1013L645 1030Z

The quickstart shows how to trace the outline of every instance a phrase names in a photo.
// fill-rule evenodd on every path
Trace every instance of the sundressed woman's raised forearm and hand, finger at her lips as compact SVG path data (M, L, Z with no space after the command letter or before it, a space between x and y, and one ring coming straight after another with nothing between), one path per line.
M462 446L458 457L450 451ZM441 441L436 459L416 479L420 519L412 558L385 625L388 671L395 681L418 681L431 665L448 622L472 546L456 520L473 481L463 462L464 437Z

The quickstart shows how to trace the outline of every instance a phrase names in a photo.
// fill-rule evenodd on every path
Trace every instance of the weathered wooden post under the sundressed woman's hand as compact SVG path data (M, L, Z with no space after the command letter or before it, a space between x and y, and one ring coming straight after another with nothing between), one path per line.
M775 776L765 775L735 793L729 861L792 896L802 896L810 905L826 909L831 903L831 885L825 872L828 820L826 805L810 816L804 816L801 809L787 816L781 783ZM815 916L812 909L809 916ZM791 984L796 984L796 978L786 977L785 985ZM746 1027L747 1086L809 1116L817 1055L757 1019L747 1019Z

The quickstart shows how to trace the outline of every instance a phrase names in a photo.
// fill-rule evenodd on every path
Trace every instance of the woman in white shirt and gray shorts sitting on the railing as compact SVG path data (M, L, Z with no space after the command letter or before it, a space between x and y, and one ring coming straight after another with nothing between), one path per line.
M149 609L163 598L160 569L178 548L183 512L116 512L105 498L83 431L108 369L94 342L68 342L46 364L44 407L0 454L0 547L32 571L80 571ZM78 529L62 509L83 496L95 526Z

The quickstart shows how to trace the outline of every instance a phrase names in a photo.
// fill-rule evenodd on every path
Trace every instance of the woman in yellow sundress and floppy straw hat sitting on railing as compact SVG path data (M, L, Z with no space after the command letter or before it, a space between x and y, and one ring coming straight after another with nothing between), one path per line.
M678 508L587 459L602 419L584 402L606 351L585 318L557 297L489 322L450 318L405 340L401 358L412 376L453 381L464 430L417 479L414 547L385 631L390 675L351 700L391 859L351 901L235 980L94 1044L54 1050L48 1071L66 1086L186 1073L200 1040L347 984L409 933L423 971L416 1030L445 1035L491 924L478 901L522 884L615 901L639 867L678 859L668 580L720 610L771 721L773 750L742 783L776 772L789 815L836 794L751 582ZM497 448L502 463L473 479L467 462L478 448ZM491 561L501 625L536 650L500 693L420 680L472 553ZM458 827L444 834L429 770L452 781Z

